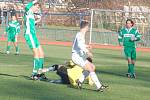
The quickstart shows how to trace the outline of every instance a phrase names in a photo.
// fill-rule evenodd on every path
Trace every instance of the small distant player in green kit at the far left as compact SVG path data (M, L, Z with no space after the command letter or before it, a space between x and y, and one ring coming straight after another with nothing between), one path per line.
M18 34L20 32L20 24L17 21L17 17L15 12L12 12L11 14L11 21L8 23L8 26L6 28L7 33L7 48L6 53L10 53L10 46L11 42L14 44L16 48L16 54L19 54L19 47L18 47Z

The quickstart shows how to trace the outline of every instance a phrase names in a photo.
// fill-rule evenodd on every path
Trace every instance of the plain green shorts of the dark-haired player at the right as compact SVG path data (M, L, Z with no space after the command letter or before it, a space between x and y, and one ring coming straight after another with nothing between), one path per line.
M135 47L124 47L124 53L127 58L136 60L136 48Z

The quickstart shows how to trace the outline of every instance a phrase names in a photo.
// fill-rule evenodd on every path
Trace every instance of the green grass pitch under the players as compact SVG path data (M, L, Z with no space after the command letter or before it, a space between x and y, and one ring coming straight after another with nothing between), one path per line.
M150 99L150 53L138 52L137 79L125 77L127 61L119 50L94 49L96 73L109 89L93 91L95 87L83 85L82 90L63 84L32 81L32 52L27 45L19 44L20 55L4 54L6 42L0 42L0 100L149 100ZM43 45L45 67L63 64L71 58L71 47ZM59 79L55 72L46 74Z

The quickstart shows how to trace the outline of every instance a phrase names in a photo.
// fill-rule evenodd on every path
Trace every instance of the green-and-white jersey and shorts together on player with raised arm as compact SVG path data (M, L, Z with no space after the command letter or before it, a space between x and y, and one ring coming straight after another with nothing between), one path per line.
M29 2L25 7L25 16L24 16L24 23L25 23L25 32L24 37L28 46L33 48L38 48L40 43L36 36L36 28L35 28L35 18L34 13L30 9L34 5L33 2Z

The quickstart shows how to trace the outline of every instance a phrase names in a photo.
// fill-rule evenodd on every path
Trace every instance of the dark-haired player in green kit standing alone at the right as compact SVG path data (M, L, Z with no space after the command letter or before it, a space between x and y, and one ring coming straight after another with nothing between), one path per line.
M126 20L126 26L121 28L118 35L120 45L124 46L124 53L128 60L127 77L136 78L135 75L135 60L136 60L136 41L141 39L141 34L134 27L134 22L131 19Z

